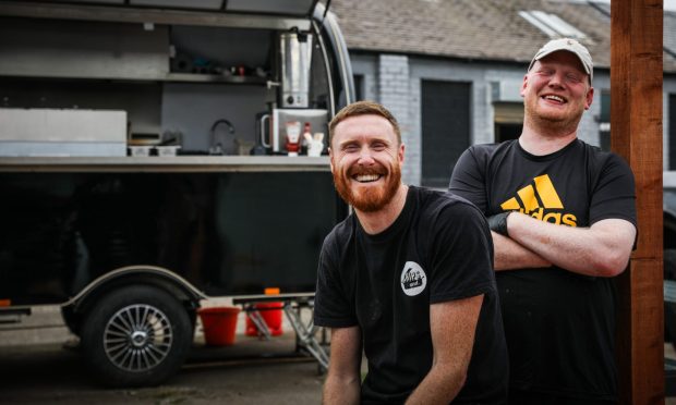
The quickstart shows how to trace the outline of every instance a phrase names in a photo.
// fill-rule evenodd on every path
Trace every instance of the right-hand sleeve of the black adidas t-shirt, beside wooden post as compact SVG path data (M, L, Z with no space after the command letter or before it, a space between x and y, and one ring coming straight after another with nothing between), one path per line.
M636 222L636 192L633 173L627 162L612 154L592 191L589 223L616 218Z

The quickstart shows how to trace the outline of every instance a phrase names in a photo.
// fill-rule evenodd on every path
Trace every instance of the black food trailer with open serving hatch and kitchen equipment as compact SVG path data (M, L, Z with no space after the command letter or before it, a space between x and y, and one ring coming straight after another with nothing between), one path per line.
M60 305L101 381L132 386L177 372L203 299L311 307L348 211L328 3L0 0L0 316Z

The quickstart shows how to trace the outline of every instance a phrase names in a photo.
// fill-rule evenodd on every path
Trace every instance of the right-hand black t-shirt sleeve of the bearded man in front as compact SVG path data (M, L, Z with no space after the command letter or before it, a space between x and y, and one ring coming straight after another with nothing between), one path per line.
M430 303L495 291L493 238L476 207L467 202L446 207L435 229Z

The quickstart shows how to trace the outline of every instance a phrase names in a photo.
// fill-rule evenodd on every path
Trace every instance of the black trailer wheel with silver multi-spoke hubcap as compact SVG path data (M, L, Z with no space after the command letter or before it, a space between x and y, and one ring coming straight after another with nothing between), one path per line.
M82 348L105 385L149 386L174 375L193 341L186 309L162 290L134 285L105 295L82 324Z

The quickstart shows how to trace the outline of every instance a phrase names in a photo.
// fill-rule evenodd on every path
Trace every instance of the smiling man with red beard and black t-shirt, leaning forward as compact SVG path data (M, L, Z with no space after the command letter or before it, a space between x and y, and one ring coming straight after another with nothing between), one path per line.
M319 258L314 323L331 328L324 403L504 403L507 355L484 217L462 198L401 183L399 125L381 105L342 109L329 147L336 189L354 212Z

